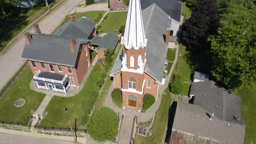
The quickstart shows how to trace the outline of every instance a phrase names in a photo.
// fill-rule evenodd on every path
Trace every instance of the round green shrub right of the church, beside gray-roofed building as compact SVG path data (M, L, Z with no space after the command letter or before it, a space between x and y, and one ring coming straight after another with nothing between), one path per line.
M181 94L183 92L184 83L181 75L173 75L173 80L169 83L169 88L174 94Z

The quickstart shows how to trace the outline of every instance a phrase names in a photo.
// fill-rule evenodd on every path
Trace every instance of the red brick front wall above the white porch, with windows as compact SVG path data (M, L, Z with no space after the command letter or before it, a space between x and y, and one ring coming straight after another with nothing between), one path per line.
M72 70L72 74L71 74L71 73L68 73L68 69L65 65L61 65L61 69L62 69L62 72L61 72L59 71L57 65L53 64L54 72L52 72L50 70L50 66L48 63L44 63L45 69L42 69L40 62L34 62L34 63L36 64L36 68L33 68L31 61L28 61L28 64L30 65L30 69L32 70L33 75L35 75L38 70L40 70L41 72L51 72L51 73L56 73L61 75L67 75L68 77L74 78L75 86L78 86L77 76L75 76L74 68L71 68ZM68 81L69 81L69 85L72 86L71 80L69 79Z

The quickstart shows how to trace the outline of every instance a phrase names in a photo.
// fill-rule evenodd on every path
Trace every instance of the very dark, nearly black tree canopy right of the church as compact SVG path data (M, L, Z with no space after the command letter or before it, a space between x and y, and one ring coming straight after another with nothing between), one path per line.
M191 17L182 26L182 43L189 50L210 49L208 37L217 33L219 17L214 0L198 1Z

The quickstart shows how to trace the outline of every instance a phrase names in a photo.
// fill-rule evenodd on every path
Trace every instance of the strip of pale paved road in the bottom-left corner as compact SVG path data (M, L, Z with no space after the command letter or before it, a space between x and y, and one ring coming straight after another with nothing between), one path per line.
M44 139L40 137L31 137L31 136L22 136L22 135L12 135L12 134L4 134L0 133L0 144L11 144L11 143L19 143L19 144L27 144L27 143L37 143L37 144L71 144L72 141L62 141L62 140L50 140Z

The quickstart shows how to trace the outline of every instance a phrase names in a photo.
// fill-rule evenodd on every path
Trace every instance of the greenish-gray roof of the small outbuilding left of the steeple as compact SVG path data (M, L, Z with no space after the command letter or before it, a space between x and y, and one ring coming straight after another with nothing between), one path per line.
M94 37L91 39L92 45L98 45L97 51L101 49L115 50L119 37L114 33L108 33L103 37Z

